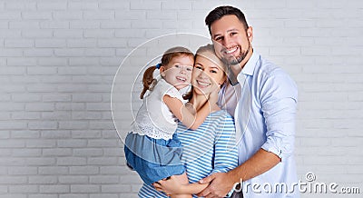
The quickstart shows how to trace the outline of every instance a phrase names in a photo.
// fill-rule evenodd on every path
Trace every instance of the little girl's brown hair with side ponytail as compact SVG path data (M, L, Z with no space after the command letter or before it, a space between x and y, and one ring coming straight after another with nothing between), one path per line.
M192 58L194 58L194 54L192 54L191 50L182 46L176 46L168 49L167 51L165 51L164 54L162 54L162 66L169 64L172 61L172 58L182 55L191 56ZM153 87L157 83L156 79L153 77L153 72L155 71L155 69L156 66L151 66L143 73L143 89L142 93L140 94L141 99L143 99L143 95L146 93L146 91L152 91Z

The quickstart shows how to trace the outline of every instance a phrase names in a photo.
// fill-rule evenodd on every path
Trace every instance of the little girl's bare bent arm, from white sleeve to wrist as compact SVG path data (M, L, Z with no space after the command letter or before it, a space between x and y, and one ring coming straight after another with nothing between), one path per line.
M209 114L211 114L211 104L205 103L201 109L194 115L188 110L188 108L182 104L182 101L165 94L162 97L163 102L172 111L172 114L177 117L182 124L188 128L195 130L204 122Z

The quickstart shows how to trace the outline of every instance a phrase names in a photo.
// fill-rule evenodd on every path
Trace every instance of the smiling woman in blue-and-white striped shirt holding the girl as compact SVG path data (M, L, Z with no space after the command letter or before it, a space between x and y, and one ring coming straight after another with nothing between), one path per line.
M214 54L213 45L201 46L196 55L191 74L193 86L190 104L198 111L208 103L210 94L219 89L227 76L224 64ZM235 129L231 115L222 111L217 104L211 105L211 114L196 130L178 125L177 134L182 142L182 162L187 169L190 183L198 183L211 173L228 172L238 165L238 152L235 144ZM173 176L169 180L154 183L165 193L182 193L181 185ZM140 197L167 197L152 185L142 185ZM195 196L195 195L194 195ZM195 196L196 197L196 196Z

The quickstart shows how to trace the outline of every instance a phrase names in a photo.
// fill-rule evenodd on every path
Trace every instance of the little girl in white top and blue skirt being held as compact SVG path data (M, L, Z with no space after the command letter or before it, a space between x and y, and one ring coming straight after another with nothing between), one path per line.
M174 134L177 120L192 130L197 129L211 108L210 103L206 103L192 114L184 105L186 101L180 90L191 84L193 64L190 50L173 47L162 55L161 64L148 68L143 74L143 103L132 123L132 132L126 136L124 152L127 164L148 185L172 175L181 183L189 183L181 162L182 145ZM159 81L152 76L155 69L160 70L162 78ZM149 94L144 95L146 92ZM213 104L217 100L218 94L210 98ZM191 192L193 186L190 186ZM191 197L191 194L173 197Z

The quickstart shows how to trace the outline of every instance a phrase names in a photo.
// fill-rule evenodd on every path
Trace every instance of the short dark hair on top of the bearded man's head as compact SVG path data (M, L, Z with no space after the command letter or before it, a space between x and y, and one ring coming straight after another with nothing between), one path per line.
M247 24L246 17L240 11L239 8L232 7L229 5L219 6L214 8L207 17L205 17L205 25L208 25L208 29L210 30L211 35L211 24L213 24L215 21L221 19L224 15L235 15L240 20L240 23L243 24L244 28L247 30L249 28L249 25Z

